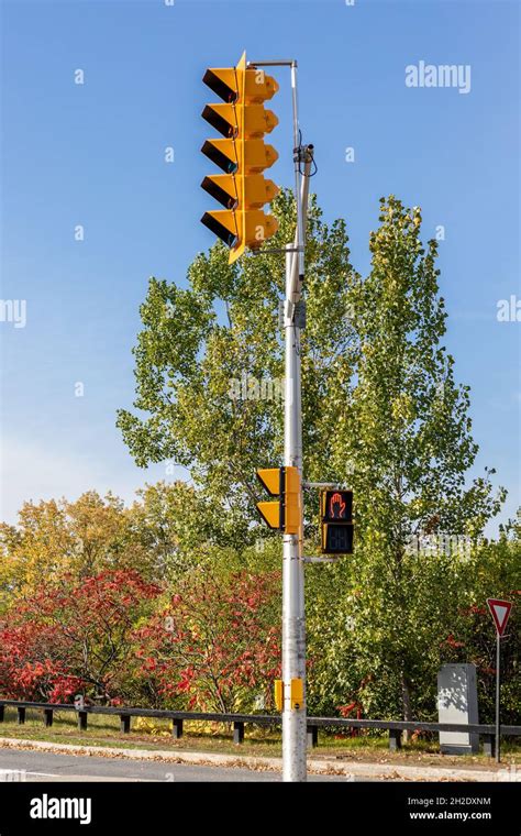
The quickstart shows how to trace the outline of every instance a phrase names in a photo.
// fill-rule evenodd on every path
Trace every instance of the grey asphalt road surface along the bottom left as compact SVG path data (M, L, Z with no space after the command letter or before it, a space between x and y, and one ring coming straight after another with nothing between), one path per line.
M166 761L126 760L46 751L0 749L3 781L280 781L280 772L199 767ZM310 781L345 781L342 776L309 776Z

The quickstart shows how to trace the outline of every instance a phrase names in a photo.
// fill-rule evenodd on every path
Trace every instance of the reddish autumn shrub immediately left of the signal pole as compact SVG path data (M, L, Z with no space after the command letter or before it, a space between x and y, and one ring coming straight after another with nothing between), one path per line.
M188 710L251 711L273 704L280 675L280 574L191 573L135 634L137 675Z

